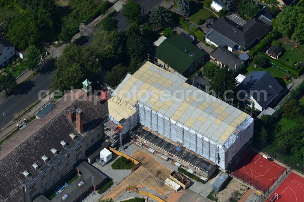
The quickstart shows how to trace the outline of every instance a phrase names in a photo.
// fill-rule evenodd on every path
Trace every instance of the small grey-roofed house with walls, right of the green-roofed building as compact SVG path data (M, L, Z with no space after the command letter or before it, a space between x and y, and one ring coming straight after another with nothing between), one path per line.
M229 69L233 69L234 71L244 68L243 60L220 46L210 53L210 58L212 62L217 63L219 66L228 66Z

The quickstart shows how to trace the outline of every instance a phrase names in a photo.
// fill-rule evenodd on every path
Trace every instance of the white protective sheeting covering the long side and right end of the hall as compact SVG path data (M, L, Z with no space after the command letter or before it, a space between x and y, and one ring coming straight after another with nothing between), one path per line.
M174 142L181 143L187 149L211 160L223 169L227 167L232 157L253 136L253 118L251 117L248 117L235 129L222 147L204 137L203 134L191 130L161 113L155 112L142 103L138 103L136 109L139 112L139 123Z

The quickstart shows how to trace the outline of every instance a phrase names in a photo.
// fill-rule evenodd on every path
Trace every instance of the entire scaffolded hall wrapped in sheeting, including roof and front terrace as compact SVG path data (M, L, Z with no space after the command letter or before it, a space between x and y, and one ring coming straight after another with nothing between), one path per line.
M149 61L108 93L105 134L111 145L127 134L202 173L226 170L253 137L253 118Z

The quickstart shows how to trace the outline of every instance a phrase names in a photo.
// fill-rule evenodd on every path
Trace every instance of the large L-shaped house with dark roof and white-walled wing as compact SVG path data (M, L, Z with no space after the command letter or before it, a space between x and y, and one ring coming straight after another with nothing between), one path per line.
M250 19L241 26L226 16L216 20L210 27L213 30L206 34L206 41L230 51L238 47L250 49L271 30L271 25L257 18Z

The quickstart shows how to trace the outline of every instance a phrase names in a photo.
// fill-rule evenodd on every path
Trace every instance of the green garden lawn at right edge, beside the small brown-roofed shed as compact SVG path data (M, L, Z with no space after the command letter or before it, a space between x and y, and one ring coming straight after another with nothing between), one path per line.
M279 58L279 61L284 62L287 65L292 65L293 63L304 62L304 45L301 43L296 43L293 40L288 39L287 36L283 36L279 41L282 43L282 48L284 49L283 55ZM290 48L288 48L288 43ZM298 48L295 48L295 45ZM302 55L303 54L303 55Z

